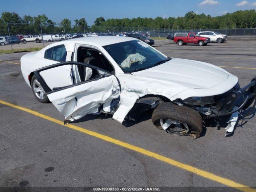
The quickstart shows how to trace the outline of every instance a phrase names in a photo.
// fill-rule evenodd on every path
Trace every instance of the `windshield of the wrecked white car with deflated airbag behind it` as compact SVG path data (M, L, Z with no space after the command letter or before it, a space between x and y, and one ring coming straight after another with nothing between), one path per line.
M170 60L140 40L106 45L103 48L125 73L148 69Z

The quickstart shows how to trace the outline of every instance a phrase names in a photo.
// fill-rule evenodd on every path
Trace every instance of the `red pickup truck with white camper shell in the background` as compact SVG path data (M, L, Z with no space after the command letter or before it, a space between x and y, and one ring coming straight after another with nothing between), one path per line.
M187 43L194 43L200 46L210 43L210 38L196 36L195 33L175 33L173 41L178 45L186 45Z

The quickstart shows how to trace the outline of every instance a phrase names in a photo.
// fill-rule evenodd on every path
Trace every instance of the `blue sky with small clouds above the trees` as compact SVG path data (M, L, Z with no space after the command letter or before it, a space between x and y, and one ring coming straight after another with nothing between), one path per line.
M84 17L88 25L92 25L100 16L105 19L177 17L188 11L218 16L253 8L256 9L256 0L5 0L1 2L0 13L46 14L56 23L68 18L72 24Z

